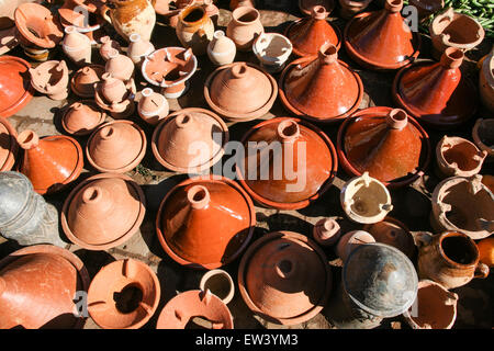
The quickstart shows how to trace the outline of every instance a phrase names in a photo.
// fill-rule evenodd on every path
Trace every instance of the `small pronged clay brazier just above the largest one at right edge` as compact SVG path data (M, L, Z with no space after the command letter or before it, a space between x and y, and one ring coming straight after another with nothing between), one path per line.
M486 157L487 151L481 151L475 144L456 136L445 135L436 147L436 160L444 178L475 176Z

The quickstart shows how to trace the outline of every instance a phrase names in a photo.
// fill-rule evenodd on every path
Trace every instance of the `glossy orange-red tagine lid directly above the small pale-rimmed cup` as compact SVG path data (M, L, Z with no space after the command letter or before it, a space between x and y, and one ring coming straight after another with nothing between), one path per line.
M175 186L164 199L156 230L165 251L180 264L216 269L247 247L256 212L237 183L210 176Z

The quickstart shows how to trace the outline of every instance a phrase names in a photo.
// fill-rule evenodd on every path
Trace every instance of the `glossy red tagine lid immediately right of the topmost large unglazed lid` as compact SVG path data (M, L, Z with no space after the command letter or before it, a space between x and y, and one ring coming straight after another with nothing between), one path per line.
M357 111L363 84L333 44L321 46L318 56L291 63L280 78L280 98L293 114L313 122L335 122Z

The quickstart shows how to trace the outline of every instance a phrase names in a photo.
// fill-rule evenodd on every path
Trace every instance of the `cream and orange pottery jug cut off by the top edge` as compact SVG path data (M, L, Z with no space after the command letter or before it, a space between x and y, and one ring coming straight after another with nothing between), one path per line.
M103 5L100 14L113 25L125 41L130 42L132 34L137 33L144 41L150 41L156 24L156 12L148 0L111 0Z

